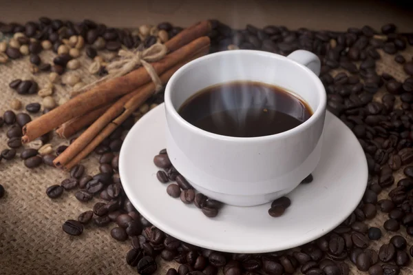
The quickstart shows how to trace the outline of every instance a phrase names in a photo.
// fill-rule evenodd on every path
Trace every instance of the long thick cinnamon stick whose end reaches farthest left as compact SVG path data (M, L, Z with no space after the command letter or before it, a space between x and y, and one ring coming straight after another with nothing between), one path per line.
M167 54L165 58L154 62L151 65L156 71L156 74L160 75L176 64L182 63L184 60L188 59L188 57L193 56L200 49L206 46L209 47L209 44L209 37L200 37L171 54ZM39 136L50 132L62 123L65 123L76 116L81 116L97 106L105 105L116 99L118 96L123 96L124 94L131 92L134 88L138 88L149 81L151 81L149 74L145 68L140 67L123 77L111 79L101 85L96 85L92 90L89 90L84 94L79 94L70 101L67 101L67 103L23 126L24 136L21 138L21 141L23 143L28 143Z

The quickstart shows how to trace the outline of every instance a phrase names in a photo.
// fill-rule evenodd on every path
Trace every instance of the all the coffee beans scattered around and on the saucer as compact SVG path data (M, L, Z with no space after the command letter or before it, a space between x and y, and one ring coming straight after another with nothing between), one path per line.
M96 227L116 224L111 236L116 241L131 241L132 249L127 253L126 261L140 274L156 271L157 256L180 264L178 269L169 269L169 275L218 274L219 270L225 275L282 275L296 271L306 275L348 275L350 267L346 260L371 275L399 274L401 269L410 264L410 256L413 256L412 243L408 243L404 237L406 234L409 238L413 236L413 168L409 166L413 163L413 61L404 51L410 47L409 44L413 45L413 34L399 34L393 24L387 24L381 30L363 26L348 28L346 32L306 28L288 30L285 26L266 26L261 29L251 25L247 25L244 30L233 30L216 20L211 20L211 24L211 52L240 48L287 55L303 49L314 52L321 59L320 79L328 94L328 110L354 132L368 161L368 187L357 209L326 236L282 252L228 254L178 241L153 227L136 211L123 191L117 173L117 152L127 130L134 124L135 120L131 118L96 148L95 153L100 155L99 174L85 175L84 167L78 165L70 172L68 179L47 188L46 194L52 199L74 190L74 196L81 202L97 197L102 200L95 203L92 210L79 214L77 221L67 220L63 224L63 231L76 236L82 234L84 225L92 221ZM24 26L0 23L0 32L12 35L14 39L10 39L6 45L0 43L0 61L4 60L4 54L1 55L3 52L10 59L27 53L32 54L32 65L40 68L42 62L36 54L42 48L52 48L59 58L56 59L57 63L49 65L51 70L61 74L65 72L68 62L76 59L77 52L74 49L80 50L85 43L88 44L87 56L96 59L99 57L96 55L97 50L116 51L121 44L127 48L134 48L140 43L149 46L157 39L165 42L180 30L182 28L173 27L170 23L161 23L155 28L141 26L138 32L130 32L107 28L89 20L72 23L44 17ZM396 79L388 72L377 72L377 61L388 54L394 55L395 64L410 77ZM76 64L73 66L75 68ZM59 74L53 74L51 81L54 82ZM15 89L23 82L14 83ZM30 84L30 88L35 85L34 82ZM26 91L22 86L21 90L29 93L30 88ZM379 90L385 90L385 93L379 96ZM136 115L142 116L152 108L152 104L161 103L162 96L160 92L151 98ZM28 105L26 110L39 112L40 105ZM44 108L43 113L49 110ZM21 144L16 141L16 137L21 133L13 130L12 125L20 127L27 119L27 116L21 116L19 122L12 111L5 112L0 119L0 127L3 124L10 127L7 131L10 131L8 138L11 140L10 148L1 152L1 159L12 159L19 153L17 150L20 150ZM47 135L39 141L40 147L45 145ZM34 150L22 151L20 155L25 161L36 158L28 165L35 167L36 163L41 162L38 161L40 147L39 143L30 146ZM65 147L57 148L56 154L63 152ZM45 154L41 159L43 163L52 165L54 157L54 154ZM162 169L157 174L161 183L176 181L167 187L170 196L180 198L183 203L194 203L206 216L218 215L221 203L196 194L171 166L166 150L162 150L153 161ZM393 172L401 169L405 176L395 181ZM313 176L310 175L303 183L312 180ZM3 188L0 185L0 196L1 190ZM379 199L382 192L388 192L388 196ZM274 216L282 214L289 204L288 198L279 198L273 202L269 213ZM368 226L368 221L379 211L388 214L388 221L383 223L384 232L379 227ZM388 232L399 234L393 233L395 236L389 242L378 250L374 249L372 243L380 241Z

